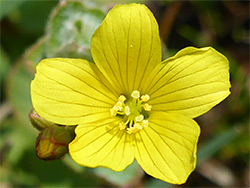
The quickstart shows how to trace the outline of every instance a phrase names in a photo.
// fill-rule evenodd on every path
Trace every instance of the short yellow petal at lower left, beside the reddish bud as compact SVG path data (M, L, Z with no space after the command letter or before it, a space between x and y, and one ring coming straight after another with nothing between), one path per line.
M133 140L120 130L119 118L101 123L78 125L76 138L69 145L72 159L82 166L108 167L121 171L134 161Z

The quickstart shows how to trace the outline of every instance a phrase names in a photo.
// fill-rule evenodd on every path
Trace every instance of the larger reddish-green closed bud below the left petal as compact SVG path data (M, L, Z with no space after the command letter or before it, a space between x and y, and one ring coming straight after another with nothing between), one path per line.
M75 126L53 125L44 128L36 140L36 154L43 160L60 159L68 153L68 144L74 139Z

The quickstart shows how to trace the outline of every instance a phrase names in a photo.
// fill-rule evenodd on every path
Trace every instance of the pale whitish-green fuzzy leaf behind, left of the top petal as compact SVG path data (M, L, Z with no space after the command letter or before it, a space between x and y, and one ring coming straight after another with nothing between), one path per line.
M90 39L105 14L87 9L82 3L61 3L48 22L48 57L79 57L92 61Z

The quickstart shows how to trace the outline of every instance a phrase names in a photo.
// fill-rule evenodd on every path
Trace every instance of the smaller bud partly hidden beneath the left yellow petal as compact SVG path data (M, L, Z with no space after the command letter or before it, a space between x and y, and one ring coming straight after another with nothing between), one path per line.
M31 124L37 128L39 131L43 130L44 128L51 127L54 123L43 119L39 116L34 109L32 109L29 113L29 118Z

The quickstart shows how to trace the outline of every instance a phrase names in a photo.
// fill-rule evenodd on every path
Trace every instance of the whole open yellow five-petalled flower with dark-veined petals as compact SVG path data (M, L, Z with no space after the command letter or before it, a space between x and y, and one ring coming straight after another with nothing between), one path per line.
M158 24L140 4L116 5L92 36L95 64L42 60L31 83L43 118L78 125L69 145L87 167L121 171L134 159L149 175L181 184L196 165L198 117L229 94L229 63L211 47L161 62Z

